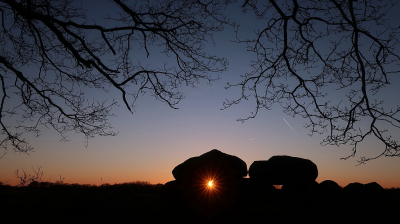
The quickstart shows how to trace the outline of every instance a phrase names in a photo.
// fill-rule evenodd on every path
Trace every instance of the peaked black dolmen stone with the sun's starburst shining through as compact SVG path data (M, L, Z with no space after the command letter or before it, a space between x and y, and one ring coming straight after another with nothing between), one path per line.
M180 189L188 206L207 215L229 212L237 203L247 165L240 158L213 149L192 157L172 170L175 181L168 187Z

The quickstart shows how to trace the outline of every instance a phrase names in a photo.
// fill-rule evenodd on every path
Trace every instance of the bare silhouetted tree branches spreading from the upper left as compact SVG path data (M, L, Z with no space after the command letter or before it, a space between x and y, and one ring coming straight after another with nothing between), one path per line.
M111 2L119 13L106 27L88 18L79 1L0 0L2 148L31 151L23 134L39 135L43 127L63 140L70 131L83 133L86 141L115 135L108 118L117 101L89 100L85 88L119 91L131 112L145 93L176 109L184 98L181 85L213 81L218 77L211 73L225 70L226 60L203 48L223 29L227 20L219 11L228 2ZM157 67L133 60L140 52L160 56L160 49L175 63Z

